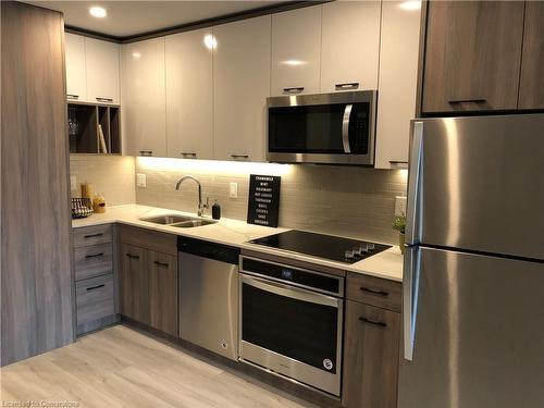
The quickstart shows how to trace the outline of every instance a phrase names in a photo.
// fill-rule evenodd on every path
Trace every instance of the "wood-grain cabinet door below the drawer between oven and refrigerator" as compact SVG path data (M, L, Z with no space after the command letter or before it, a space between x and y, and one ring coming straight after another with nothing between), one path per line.
M346 301L342 405L397 406L400 313Z

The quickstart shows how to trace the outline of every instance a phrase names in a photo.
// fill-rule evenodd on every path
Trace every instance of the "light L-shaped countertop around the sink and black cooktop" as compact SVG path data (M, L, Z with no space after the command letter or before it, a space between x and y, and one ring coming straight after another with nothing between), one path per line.
M277 234L280 232L288 231L288 228L272 228L268 226L248 224L245 221L231 220L225 218L222 218L215 224L193 228L180 228L175 226L161 225L139 220L140 218L161 214L182 214L196 217L194 213L169 210L164 208L126 205L109 207L107 212L103 214L92 214L86 219L72 220L72 226L82 227L119 222L122 224L139 226L158 232L165 232L191 238L205 239L218 244L237 246L239 248L251 249L260 252L284 257L286 254L285 251L274 248L249 244L248 240L260 238L267 235ZM403 281L403 256L398 247L390 248L383 252L376 254L368 259L353 264L345 264L341 262L329 261L326 259L308 257L301 254L289 252L288 256L289 258L300 261L318 263L344 271L363 273L397 282Z

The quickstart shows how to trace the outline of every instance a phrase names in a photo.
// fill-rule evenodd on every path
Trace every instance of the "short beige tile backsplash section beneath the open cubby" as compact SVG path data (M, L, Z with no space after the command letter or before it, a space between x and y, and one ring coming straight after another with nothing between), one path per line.
M79 197L79 184L88 182L91 184L92 195L103 193L108 206L136 201L133 157L71 154L70 175L75 175L77 180L73 197Z

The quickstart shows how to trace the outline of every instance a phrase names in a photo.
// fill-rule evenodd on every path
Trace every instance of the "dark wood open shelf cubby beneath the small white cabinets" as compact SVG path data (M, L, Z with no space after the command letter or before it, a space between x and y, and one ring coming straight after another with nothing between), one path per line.
M121 154L120 107L69 102L70 153ZM99 126L107 152L101 149Z

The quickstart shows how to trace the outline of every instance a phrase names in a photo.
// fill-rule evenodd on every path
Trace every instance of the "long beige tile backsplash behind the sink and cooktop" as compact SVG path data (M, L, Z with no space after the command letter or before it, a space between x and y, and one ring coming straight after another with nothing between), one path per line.
M209 166L206 163L211 163ZM237 166L237 165L240 166ZM197 186L187 181L176 191L176 181L187 174L202 184L202 197L221 205L222 215L246 220L249 174L282 176L280 226L397 243L395 196L406 195L406 171L356 166L280 165L194 162L137 158L136 173L147 177L136 187L140 205L196 212ZM238 184L238 197L230 198L230 183ZM211 210L207 210L211 213Z

